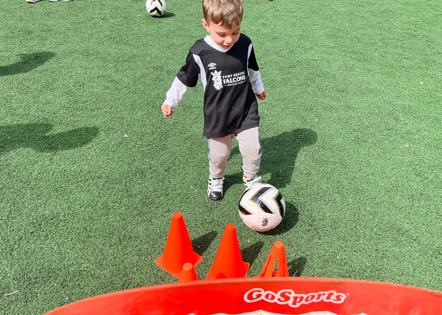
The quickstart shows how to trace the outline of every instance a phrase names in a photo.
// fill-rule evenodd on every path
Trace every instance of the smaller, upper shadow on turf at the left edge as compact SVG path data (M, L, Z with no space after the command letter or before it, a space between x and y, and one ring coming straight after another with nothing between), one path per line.
M20 61L14 64L8 64L7 66L0 66L0 76L29 72L50 60L55 54L51 52L38 52L22 53L17 56L19 56Z

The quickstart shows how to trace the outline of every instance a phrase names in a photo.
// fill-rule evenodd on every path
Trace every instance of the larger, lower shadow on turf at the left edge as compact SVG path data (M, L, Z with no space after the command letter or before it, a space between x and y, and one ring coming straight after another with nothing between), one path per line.
M50 124L15 124L0 126L0 155L18 148L55 152L84 146L98 135L96 127L80 127L47 135Z

